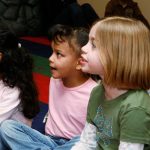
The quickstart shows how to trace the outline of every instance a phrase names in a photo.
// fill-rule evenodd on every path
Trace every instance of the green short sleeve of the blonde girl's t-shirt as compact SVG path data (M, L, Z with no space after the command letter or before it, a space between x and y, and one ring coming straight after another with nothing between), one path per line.
M150 112L133 108L120 121L121 141L150 144Z

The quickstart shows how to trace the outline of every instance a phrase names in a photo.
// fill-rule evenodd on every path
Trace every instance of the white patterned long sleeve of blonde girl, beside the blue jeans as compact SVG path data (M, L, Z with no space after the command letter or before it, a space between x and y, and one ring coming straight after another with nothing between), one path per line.
M71 150L95 150L96 146L96 128L94 125L86 122L80 141Z

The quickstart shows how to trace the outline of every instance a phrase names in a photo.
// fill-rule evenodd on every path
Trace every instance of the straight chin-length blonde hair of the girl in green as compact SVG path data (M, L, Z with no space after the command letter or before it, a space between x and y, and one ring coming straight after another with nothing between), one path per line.
M108 17L96 26L104 82L124 89L150 88L150 31L138 20Z

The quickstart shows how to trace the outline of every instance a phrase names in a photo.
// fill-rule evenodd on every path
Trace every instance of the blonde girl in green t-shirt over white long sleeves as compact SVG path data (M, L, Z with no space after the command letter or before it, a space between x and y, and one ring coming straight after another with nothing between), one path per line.
M91 93L85 128L71 150L143 150L150 144L150 32L137 20L97 22L82 48L82 71L102 81Z

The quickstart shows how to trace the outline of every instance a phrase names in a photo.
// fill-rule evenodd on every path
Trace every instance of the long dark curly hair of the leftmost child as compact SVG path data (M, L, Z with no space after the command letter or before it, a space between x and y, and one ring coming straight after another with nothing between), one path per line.
M20 90L22 112L33 118L39 112L38 92L33 80L33 60L29 52L19 47L18 38L0 22L0 77L6 86Z

